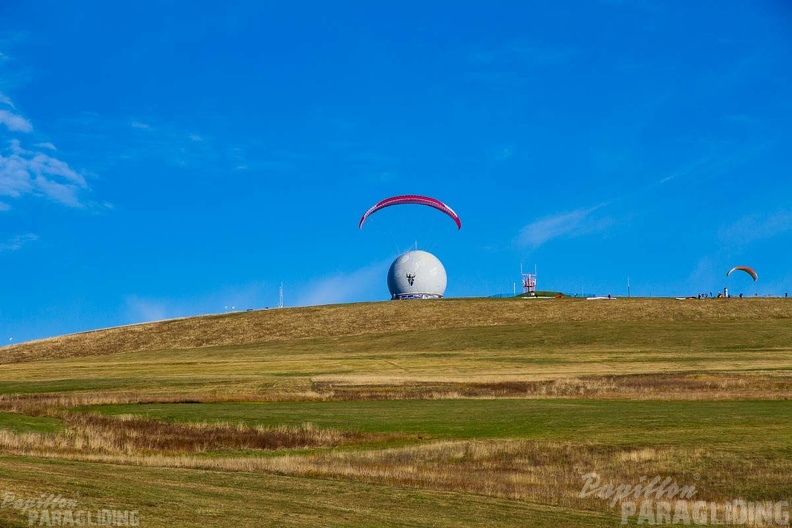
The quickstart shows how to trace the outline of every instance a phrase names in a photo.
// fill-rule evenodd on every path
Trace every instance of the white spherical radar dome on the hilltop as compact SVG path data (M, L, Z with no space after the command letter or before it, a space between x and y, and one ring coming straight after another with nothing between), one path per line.
M443 263L417 249L396 257L388 270L391 299L439 299L447 282Z

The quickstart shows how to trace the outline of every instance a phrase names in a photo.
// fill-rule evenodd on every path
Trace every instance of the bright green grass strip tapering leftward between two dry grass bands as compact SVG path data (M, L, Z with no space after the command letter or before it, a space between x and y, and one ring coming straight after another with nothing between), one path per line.
M384 400L99 406L103 414L164 421L405 433L433 439L571 438L614 446L750 449L788 447L792 405L785 401L629 401L557 399ZM724 434L728 432L728 434Z

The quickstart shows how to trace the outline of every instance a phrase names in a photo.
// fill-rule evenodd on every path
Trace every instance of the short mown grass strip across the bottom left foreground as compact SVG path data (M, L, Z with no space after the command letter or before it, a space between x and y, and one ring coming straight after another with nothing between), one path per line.
M0 457L0 490L31 498L61 494L90 511L139 510L145 528L592 528L618 523L591 511L398 486L9 457ZM0 526L22 528L28 518L0 509Z

